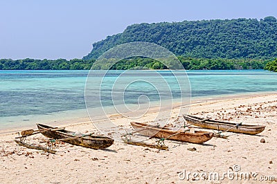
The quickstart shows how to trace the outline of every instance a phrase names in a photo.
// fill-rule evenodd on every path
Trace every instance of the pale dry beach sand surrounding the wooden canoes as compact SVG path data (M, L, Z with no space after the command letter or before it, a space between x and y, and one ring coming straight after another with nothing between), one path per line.
M178 108L174 109L173 119L177 118L177 112ZM199 102L191 105L190 113L267 127L257 136L225 133L229 139L212 138L202 145L166 140L167 151L126 145L119 141L103 150L58 142L55 147L57 154L20 147L13 142L16 134L2 134L0 183L276 183L276 94ZM152 111L141 121L149 120L155 114ZM123 127L129 127L129 120L119 116L114 119ZM90 122L68 125L66 129L96 131ZM262 138L265 143L260 142ZM45 140L44 136L37 134L27 141L42 140ZM193 147L196 151L188 150ZM249 180L233 178L234 169L239 167L238 174L252 177ZM193 177L191 174L188 178L189 172L202 174L202 177L218 173L220 179L208 178L204 181L199 175ZM221 180L224 172L229 172L229 178L226 175ZM262 181L271 180L270 176L275 177L274 181Z

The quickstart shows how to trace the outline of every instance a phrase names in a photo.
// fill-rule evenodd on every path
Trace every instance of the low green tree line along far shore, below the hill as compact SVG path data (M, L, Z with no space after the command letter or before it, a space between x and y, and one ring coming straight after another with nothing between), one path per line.
M269 60L260 59L197 59L191 57L178 56L179 61L186 70L233 70L233 69L267 69L276 68L276 60L270 62ZM0 59L0 70L89 70L94 59ZM272 67L269 64L272 64ZM275 64L275 66L274 66ZM94 65L94 69L108 69L105 64ZM129 70L129 69L167 69L161 62L145 58L132 57L129 59L122 59L113 66L112 70Z

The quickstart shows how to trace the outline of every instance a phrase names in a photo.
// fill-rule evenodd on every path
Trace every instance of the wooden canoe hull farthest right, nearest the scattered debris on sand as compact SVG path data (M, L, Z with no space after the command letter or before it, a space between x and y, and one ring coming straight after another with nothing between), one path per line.
M264 125L242 125L242 123L209 120L191 115L184 116L184 118L189 124L198 127L203 127L206 129L216 129L220 131L231 131L241 134L255 135L259 134L265 129Z

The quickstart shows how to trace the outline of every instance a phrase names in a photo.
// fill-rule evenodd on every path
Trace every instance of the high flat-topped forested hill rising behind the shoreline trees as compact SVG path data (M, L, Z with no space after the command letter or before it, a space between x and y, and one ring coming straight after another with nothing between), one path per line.
M185 57L269 59L277 57L276 31L275 17L134 24L94 43L83 59L97 58L127 42L152 42Z

